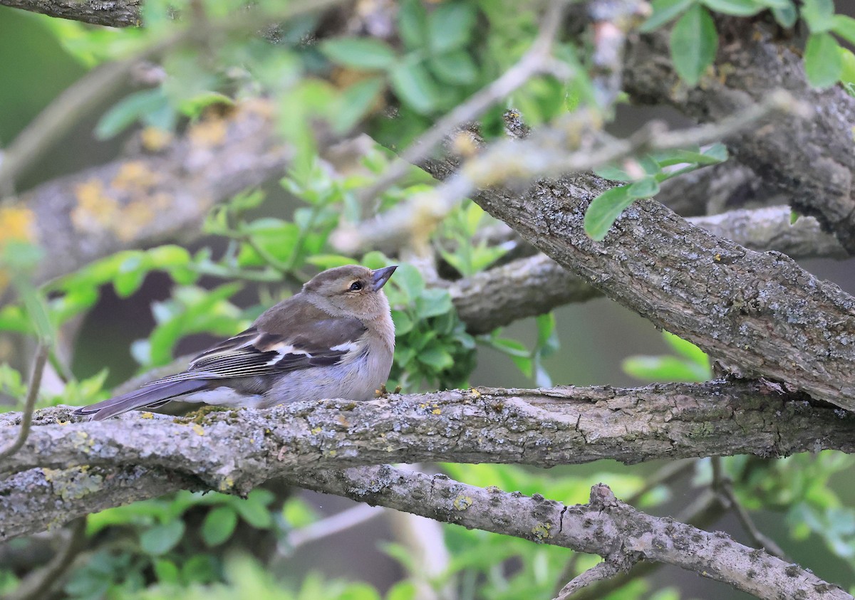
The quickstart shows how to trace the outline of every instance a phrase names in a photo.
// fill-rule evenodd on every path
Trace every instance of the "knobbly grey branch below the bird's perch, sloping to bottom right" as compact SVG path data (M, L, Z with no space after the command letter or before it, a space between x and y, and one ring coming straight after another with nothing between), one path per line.
M110 494L115 504L128 502L126 491L132 488L140 498L198 489L192 480L169 479L158 470L118 469L104 477L106 473L69 469L50 471L50 478L45 479L39 469L34 469L0 482L0 493L11 498L10 503L0 505L0 538L38 531L51 522L105 508L103 500ZM67 490L56 485L62 477L76 479L81 485ZM762 598L852 600L852 596L803 568L737 544L724 533L708 533L667 517L641 513L616 500L605 485L593 487L591 503L567 506L538 495L483 489L445 475L414 473L388 465L344 471L319 469L290 474L287 479L307 489L437 521L609 556L613 562L622 557L627 562L665 562ZM37 491L37 496L27 494L25 485ZM98 486L100 489L93 491ZM42 498L47 502L38 503Z

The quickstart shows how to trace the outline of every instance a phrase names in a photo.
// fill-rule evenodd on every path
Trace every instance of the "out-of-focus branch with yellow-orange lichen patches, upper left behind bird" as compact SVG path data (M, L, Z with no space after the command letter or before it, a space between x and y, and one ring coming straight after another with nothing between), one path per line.
M198 231L210 207L283 173L292 150L270 134L264 101L211 116L162 153L55 179L21 197L32 237L50 260L38 282L118 250Z

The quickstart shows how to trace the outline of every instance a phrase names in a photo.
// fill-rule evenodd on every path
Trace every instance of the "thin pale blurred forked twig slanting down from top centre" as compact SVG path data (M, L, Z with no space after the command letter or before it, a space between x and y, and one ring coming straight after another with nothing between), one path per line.
M422 133L407 150L400 154L398 161L387 168L374 184L361 192L363 201L386 191L390 185L394 185L407 174L411 165L427 158L454 129L481 116L492 104L507 97L528 79L545 72L556 74L563 79L569 78L572 75L572 69L551 58L552 43L561 24L566 3L567 0L552 0L541 21L540 32L528 52L501 77L475 92L466 102L458 104L450 113L436 121L427 132Z

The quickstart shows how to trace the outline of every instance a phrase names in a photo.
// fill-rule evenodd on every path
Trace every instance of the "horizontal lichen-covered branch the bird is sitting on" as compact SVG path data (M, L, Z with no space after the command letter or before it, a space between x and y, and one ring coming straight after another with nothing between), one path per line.
M763 382L483 388L228 410L195 420L131 413L69 423L68 415L64 408L39 411L27 444L0 469L159 468L221 491L248 491L296 471L382 462L551 466L855 450L855 415ZM16 417L0 417L0 443L15 435Z

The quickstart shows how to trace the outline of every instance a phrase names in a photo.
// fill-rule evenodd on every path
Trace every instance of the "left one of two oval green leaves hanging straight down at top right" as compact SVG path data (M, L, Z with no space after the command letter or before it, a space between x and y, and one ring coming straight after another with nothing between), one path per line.
M671 30L671 60L687 85L698 85L716 59L717 48L716 24L700 4L688 9Z

